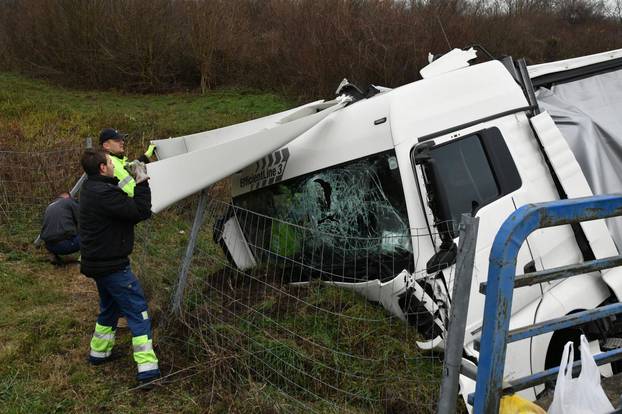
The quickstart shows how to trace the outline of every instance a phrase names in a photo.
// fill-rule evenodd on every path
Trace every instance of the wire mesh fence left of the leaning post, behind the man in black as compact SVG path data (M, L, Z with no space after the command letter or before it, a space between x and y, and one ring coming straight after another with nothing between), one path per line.
M60 193L69 192L80 179L79 159L86 146L71 143L45 151L0 150L0 243L4 250L45 254L43 245L38 250L32 246L43 214ZM134 268L145 275L145 287L160 299L157 306L161 310L168 305L170 286L175 284L195 201L190 197L136 227Z

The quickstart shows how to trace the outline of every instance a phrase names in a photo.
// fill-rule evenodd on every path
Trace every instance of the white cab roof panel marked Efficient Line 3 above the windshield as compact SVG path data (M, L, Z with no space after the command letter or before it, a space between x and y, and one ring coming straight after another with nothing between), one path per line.
M425 139L527 106L521 88L497 61L412 82L335 111L292 140L286 145L288 159L279 181L392 149L412 137ZM277 152L267 155L261 164L274 167L274 159L282 159ZM253 164L233 175L232 195L271 184L266 180L248 185L248 177L257 173Z

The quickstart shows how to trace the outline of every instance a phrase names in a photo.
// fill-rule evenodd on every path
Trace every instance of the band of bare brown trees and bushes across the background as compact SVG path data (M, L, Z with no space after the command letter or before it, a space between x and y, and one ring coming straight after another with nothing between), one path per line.
M0 1L3 67L152 92L220 85L330 96L413 81L480 43L530 62L621 47L622 0Z

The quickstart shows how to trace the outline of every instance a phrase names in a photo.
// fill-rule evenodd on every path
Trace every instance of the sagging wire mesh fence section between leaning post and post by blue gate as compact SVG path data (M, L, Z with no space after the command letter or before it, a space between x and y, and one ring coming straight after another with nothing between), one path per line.
M211 200L182 306L192 352L279 412L433 412L442 357L418 342L441 334L446 286L412 271L430 235L411 232L327 234Z

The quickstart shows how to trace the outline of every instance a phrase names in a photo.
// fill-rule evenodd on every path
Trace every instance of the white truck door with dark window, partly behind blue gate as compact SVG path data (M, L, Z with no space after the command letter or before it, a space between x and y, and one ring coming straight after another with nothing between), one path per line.
M465 344L469 344L465 348L467 352L472 349L476 353L485 300L478 291L478 285L487 278L490 248L499 227L516 208L528 203L557 200L559 193L525 113L464 128L431 141L433 143L411 143L408 150L409 161L414 167L413 178L418 184L411 188L421 191L424 201L421 208L429 211L432 217L430 224L437 234L437 249L442 244L441 236L445 239L449 236L456 242L453 221L461 213L473 213L480 217L465 337ZM406 148L398 148L398 155L402 154L400 150L405 151ZM410 197L411 203L416 198L416 194ZM447 221L452 225L442 224ZM542 270L576 263L581 258L570 226L542 229L532 233L522 246L517 272L522 273L526 267L528 271L534 268ZM425 259L422 257L422 261ZM443 273L448 277L451 290L452 269L443 270ZM563 301L549 297L551 295L547 291L551 288L542 284L517 289L514 292L511 328L535 323L542 318L550 319L551 315L565 314ZM585 300L581 303L598 303L598 292L596 288L584 292ZM528 375L532 366L536 370L543 367L544 350L549 340L550 336L542 336L538 338L542 343L533 342L530 345L529 340L525 340L510 344L507 376ZM534 349L535 354L532 355L530 349ZM525 364L529 360L531 364Z

